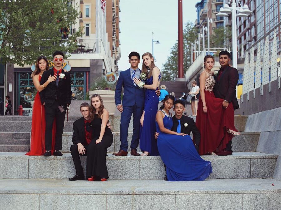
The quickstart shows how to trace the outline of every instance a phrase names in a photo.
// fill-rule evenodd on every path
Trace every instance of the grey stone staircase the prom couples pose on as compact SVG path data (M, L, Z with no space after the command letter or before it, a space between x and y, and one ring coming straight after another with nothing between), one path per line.
M160 156L122 156L120 116L111 116L113 144L106 158L110 179L106 182L68 181L75 175L69 153L72 125L65 122L62 151L58 156L26 156L31 118L0 116L0 209L281 209L281 182L273 179L278 155L257 152L260 132L245 132L247 116L235 116L241 131L233 139L232 156L202 156L213 173L203 182L166 182ZM4 122L5 120L5 122ZM4 122L4 123L3 123ZM12 126L14 125L14 126ZM9 128L13 127L13 128ZM132 135L129 126L128 141ZM22 140L24 139L24 140ZM8 145L25 146L25 151ZM86 169L86 157L81 157Z

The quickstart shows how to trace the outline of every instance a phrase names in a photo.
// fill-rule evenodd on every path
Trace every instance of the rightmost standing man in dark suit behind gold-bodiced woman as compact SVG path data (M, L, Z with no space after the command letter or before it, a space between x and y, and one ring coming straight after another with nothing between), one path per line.
M214 95L216 98L222 98L222 106L226 109L232 109L231 106L228 106L229 103L232 103L233 109L231 110L234 115L234 110L239 108L238 101L236 98L236 85L238 83L239 75L236 68L233 68L229 65L230 53L228 51L221 51L219 53L219 64L221 68L219 73L215 76L216 84L214 86ZM236 133L236 132L234 132ZM232 155L231 150L231 139L232 135L227 136L229 142L226 145L226 148L221 150L217 155Z

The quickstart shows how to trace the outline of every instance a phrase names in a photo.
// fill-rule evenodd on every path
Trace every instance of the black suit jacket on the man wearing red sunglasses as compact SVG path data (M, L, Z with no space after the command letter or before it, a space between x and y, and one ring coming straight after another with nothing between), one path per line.
M56 85L56 81L53 81L39 93L41 103L43 104L45 102L45 106L52 106L56 98L59 104L62 105L65 109L67 107L67 104L70 105L72 95L70 86L70 73L64 71L63 69L62 73L65 74L65 79L60 78L58 86ZM53 68L44 71L40 80L40 85L44 84L48 80L50 75L54 75Z

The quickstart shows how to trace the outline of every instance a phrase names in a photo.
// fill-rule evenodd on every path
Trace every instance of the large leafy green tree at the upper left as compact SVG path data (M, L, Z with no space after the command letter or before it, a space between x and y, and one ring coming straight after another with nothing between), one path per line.
M0 60L23 66L39 55L51 58L55 50L74 51L82 28L67 40L62 33L70 33L79 14L69 0L0 0Z

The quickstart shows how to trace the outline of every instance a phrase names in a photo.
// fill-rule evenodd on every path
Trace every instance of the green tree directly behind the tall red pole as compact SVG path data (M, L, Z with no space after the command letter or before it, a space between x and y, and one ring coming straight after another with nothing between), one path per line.
M196 39L196 29L192 22L187 22L183 30L184 73L191 65L191 43ZM174 81L178 77L178 43L170 50L170 56L162 66L162 81Z

